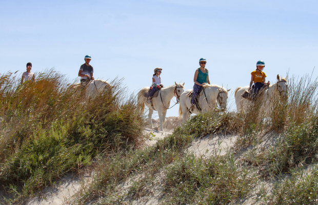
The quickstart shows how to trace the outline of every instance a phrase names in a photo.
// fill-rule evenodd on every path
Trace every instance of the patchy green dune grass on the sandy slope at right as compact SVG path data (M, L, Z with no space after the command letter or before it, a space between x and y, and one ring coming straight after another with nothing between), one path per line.
M252 190L261 204L313 203L316 169L309 174L295 170L318 163L316 87L316 79L291 77L288 98L273 96L269 113L256 103L242 113L197 114L153 147L105 156L74 204L130 204L153 191L158 174L160 204L235 204L252 197ZM196 157L187 151L193 139L220 132L238 135L226 155ZM274 138L266 148L264 135ZM126 180L131 186L122 192L118 186ZM265 194L257 188L262 181L276 181L273 190Z

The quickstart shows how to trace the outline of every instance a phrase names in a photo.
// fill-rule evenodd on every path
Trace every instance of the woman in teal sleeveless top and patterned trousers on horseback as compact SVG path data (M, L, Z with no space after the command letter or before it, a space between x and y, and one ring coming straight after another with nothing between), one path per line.
M200 68L196 69L194 73L194 86L193 86L193 95L191 98L191 109L195 108L195 105L198 101L198 95L200 94L200 90L202 86L206 84L210 84L209 80L209 70L205 68L207 60L205 58L200 58L199 65Z

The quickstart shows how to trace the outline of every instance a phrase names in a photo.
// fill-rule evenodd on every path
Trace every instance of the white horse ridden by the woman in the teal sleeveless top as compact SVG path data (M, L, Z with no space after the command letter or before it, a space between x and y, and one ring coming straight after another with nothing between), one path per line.
M203 90L200 92L199 102L203 112L215 109L217 104L222 108L226 109L228 91L225 88L217 85L204 85ZM179 107L179 118L182 118L182 122L185 123L190 117L191 113L198 114L200 111L191 107L191 97L187 94L192 90L186 90L180 96L180 107Z

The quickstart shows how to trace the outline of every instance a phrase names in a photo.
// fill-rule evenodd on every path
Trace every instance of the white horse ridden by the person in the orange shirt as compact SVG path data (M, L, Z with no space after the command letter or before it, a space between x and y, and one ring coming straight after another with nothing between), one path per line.
M235 90L234 96L237 111L243 111L252 103L250 100L241 96L245 90L248 90L248 88L249 86L238 87ZM287 97L287 77L284 78L277 75L277 83L270 85L268 89L264 90L262 94L262 104L265 106L265 111L269 111L271 106L270 99L275 93L280 94L281 97Z

